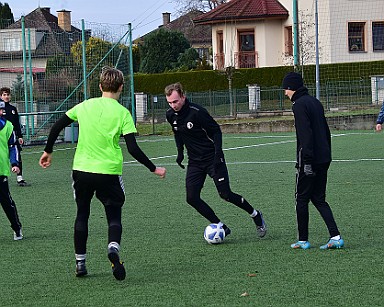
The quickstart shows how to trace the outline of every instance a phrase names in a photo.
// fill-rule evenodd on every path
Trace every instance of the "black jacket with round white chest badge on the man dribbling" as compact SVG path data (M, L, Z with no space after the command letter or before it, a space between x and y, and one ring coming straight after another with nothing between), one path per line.
M221 150L222 135L219 124L206 109L185 100L179 112L169 108L167 121L172 126L178 151L185 145L191 161L209 161Z

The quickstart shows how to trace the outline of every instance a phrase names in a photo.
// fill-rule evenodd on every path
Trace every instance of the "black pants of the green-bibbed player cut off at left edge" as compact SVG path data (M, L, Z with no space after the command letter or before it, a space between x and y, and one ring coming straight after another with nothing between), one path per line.
M6 176L0 176L0 203L5 215L11 223L11 228L16 232L19 231L21 223L17 213L16 204L9 192L8 177Z

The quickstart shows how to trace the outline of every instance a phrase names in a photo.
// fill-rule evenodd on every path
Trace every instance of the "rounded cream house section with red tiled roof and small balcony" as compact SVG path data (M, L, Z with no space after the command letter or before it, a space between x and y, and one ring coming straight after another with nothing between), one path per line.
M212 26L215 69L255 68L277 64L270 52L280 49L281 29L288 17L277 0L232 0L193 21Z

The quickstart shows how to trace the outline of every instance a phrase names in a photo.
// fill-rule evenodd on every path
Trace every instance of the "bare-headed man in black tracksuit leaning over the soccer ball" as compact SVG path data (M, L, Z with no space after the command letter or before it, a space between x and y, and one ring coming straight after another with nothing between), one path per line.
M201 199L205 179L210 176L224 200L245 210L253 218L259 237L266 234L266 225L260 211L255 210L241 195L233 193L229 184L228 170L222 150L220 126L206 109L191 103L184 95L182 85L175 83L165 88L170 108L167 121L172 126L177 147L177 164L184 168L184 146L188 154L186 175L187 202L209 222L219 224L226 236L230 229L217 217L212 208Z

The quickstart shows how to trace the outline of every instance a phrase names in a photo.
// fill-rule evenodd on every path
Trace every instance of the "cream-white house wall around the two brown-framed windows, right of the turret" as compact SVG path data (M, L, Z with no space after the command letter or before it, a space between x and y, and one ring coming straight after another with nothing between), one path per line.
M285 21L284 27L292 26L293 0L279 0L279 2L289 11L289 18ZM299 15L300 12L311 14L313 24L315 3L315 0L298 0ZM320 64L384 59L383 52L373 52L372 48L372 22L384 21L384 0L318 0L317 5ZM349 52L348 22L366 23L365 52ZM314 63L315 58L306 64Z

